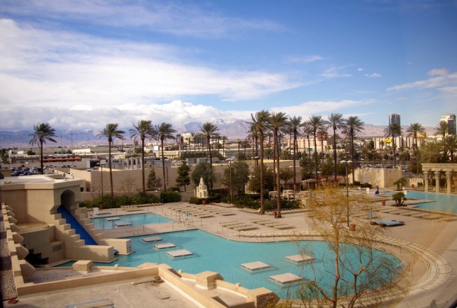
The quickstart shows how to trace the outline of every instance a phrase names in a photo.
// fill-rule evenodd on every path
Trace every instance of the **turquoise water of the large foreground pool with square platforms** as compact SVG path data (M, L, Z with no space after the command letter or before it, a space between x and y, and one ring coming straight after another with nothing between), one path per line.
M241 283L248 288L267 287L269 290L276 292L280 297L294 298L295 290L299 284L282 286L273 283L269 277L282 273L293 273L305 279L312 279L310 263L294 263L288 261L286 256L299 254L300 251L312 251L305 253L313 254L315 261L312 261L317 275L322 282L331 285L333 276L326 273L326 270L332 272L334 268L334 255L323 241L281 241L270 243L246 243L240 241L230 241L220 236L208 234L201 230L191 230L185 232L171 232L166 234L157 234L162 238L159 242L146 243L142 241L143 237L135 236L132 240L132 247L135 253L130 256L118 256L117 263L119 266L139 266L145 262L167 263L176 270L182 269L186 273L200 273L204 270L212 270L220 273L224 280L230 283ZM173 243L176 248L173 249L154 249L157 243ZM184 258L171 258L167 256L167 251L186 249L193 253L193 256ZM356 258L356 249L354 255L349 258ZM381 251L375 251L376 260L379 262L392 261L395 265L401 262L394 256ZM384 258L381 258L384 257ZM271 267L265 270L249 271L242 268L242 263L261 261L269 264ZM375 262L376 263L376 262ZM96 263L96 266L106 266L106 263ZM358 268L358 266L357 266ZM344 273L347 275L348 273ZM388 275L386 273L386 275ZM363 280L363 278L360 278Z

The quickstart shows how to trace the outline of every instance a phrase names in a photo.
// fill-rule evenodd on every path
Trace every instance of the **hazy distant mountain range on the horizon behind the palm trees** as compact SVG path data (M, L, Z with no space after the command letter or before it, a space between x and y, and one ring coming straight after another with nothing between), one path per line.
M251 120L239 120L239 119L214 119L210 122L214 123L218 128L218 133L221 136L229 137L230 139L242 139L247 136L249 130L249 122ZM202 122L189 122L182 127L183 132L200 132ZM179 127L175 127L178 133L181 133ZM364 125L364 130L358 133L359 137L381 137L384 135L384 125ZM427 135L433 135L434 127L425 127ZM402 126L402 130L405 133L407 126ZM128 128L125 129L128 132ZM0 149L3 148L30 148L30 137L32 134L31 130L20 130L17 132L13 131L0 131ZM81 147L82 145L99 145L106 144L106 138L98 138L97 135L100 133L98 130L56 130L57 143L47 142L45 147L60 147L62 144L64 147ZM329 130L329 133L332 133ZM60 137L62 136L62 137ZM128 135L126 135L128 136ZM118 143L118 142L116 142ZM35 146L36 147L36 146Z

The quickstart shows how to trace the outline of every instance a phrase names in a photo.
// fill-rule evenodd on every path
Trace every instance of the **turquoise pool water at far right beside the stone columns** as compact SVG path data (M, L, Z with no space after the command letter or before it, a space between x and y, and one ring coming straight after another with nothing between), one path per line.
M395 192L385 193L392 195ZM436 202L417 203L422 209L435 210L440 212L457 213L457 195L447 195L444 193L422 193L420 191L408 191L406 198L435 200Z

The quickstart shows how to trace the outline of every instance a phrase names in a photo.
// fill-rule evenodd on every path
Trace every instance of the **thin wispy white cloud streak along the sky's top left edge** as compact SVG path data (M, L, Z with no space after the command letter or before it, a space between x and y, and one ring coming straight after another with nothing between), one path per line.
M39 15L50 21L82 21L193 37L218 38L240 30L285 30L273 21L225 16L214 6L183 1L4 0L0 11L18 16Z

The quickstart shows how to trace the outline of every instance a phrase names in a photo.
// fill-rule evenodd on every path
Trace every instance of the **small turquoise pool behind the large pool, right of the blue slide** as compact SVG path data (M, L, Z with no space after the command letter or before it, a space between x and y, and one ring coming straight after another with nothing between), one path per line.
M117 228L116 223L129 223L132 226L141 226L143 224L162 224L164 222L172 222L173 220L165 218L163 216L154 214L154 213L141 213L141 214L132 214L132 215L119 215L114 216L119 219L116 220L106 220L113 219L113 217L96 217L91 218L91 222L95 224L97 229L113 229ZM123 227L125 228L125 227Z

